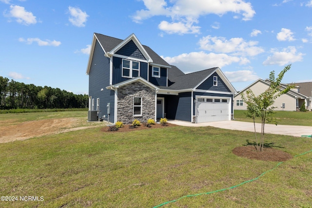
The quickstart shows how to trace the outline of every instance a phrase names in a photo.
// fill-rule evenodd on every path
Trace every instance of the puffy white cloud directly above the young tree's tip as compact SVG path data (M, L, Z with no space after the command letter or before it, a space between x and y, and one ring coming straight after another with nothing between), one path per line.
M268 57L267 60L263 62L263 65L283 66L297 61L302 61L303 56L305 55L302 53L297 53L297 50L294 46L284 48L282 51L272 49L271 53L273 55Z

